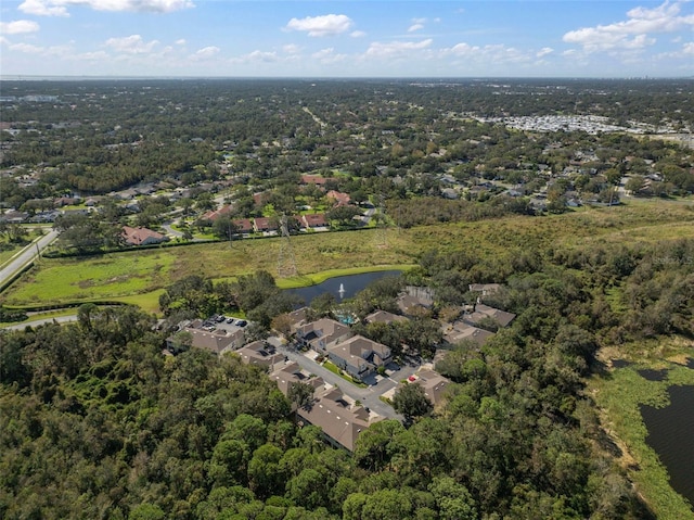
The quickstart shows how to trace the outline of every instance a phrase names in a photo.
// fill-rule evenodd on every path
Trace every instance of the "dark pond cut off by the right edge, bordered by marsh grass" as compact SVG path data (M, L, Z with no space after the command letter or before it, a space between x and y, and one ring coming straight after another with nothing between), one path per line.
M670 406L641 406L646 443L666 467L672 489L694 505L694 386L670 386L668 392Z

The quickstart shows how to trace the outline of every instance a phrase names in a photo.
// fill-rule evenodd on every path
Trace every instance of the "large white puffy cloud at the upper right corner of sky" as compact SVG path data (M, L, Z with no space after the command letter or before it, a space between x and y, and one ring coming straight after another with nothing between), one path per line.
M626 21L570 30L563 39L567 43L582 46L587 52L642 49L655 43L650 34L694 28L694 14L681 16L680 5L680 2L671 4L666 1L653 9L635 8L627 12Z

